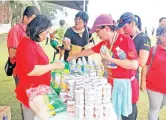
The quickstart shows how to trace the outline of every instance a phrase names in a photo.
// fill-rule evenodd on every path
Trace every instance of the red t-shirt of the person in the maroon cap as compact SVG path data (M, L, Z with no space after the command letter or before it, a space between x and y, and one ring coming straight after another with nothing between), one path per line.
M94 46L92 48L92 51L96 53L100 53L100 48L102 45L107 46L107 48L110 49L110 43L108 40L104 40L100 42L98 45ZM112 46L112 57L116 59L120 59L117 55L116 48L119 47L126 53L126 57L129 60L138 60L137 52L135 49L135 45L133 43L133 40L125 34L119 34L117 40L115 41L114 45ZM110 63L111 64L111 63ZM118 65L113 65L113 67L110 66L108 69L108 73L111 76L108 76L109 83L113 84L112 78L131 78L136 75L136 70L130 70L122 68ZM139 96L139 85L137 79L134 79L131 82L132 86L132 103L136 103L138 101Z

